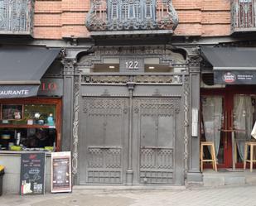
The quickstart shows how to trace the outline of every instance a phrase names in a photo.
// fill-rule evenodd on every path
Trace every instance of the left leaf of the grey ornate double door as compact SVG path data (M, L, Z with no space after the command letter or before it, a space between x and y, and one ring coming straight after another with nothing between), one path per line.
M122 184L128 98L82 98L80 184Z

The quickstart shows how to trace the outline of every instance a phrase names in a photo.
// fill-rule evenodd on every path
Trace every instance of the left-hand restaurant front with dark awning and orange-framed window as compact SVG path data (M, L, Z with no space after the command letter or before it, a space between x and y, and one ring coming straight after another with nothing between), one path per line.
M21 154L46 153L46 189L51 151L60 151L63 79L60 49L2 46L0 77L0 165L4 193L18 193Z

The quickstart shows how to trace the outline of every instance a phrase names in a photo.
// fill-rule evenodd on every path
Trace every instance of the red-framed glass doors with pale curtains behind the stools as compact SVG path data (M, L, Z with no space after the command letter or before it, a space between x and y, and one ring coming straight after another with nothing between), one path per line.
M256 119L255 94L256 89L250 86L201 90L200 139L214 141L218 168L242 167L244 142L251 138ZM207 149L204 154L205 158L210 156Z

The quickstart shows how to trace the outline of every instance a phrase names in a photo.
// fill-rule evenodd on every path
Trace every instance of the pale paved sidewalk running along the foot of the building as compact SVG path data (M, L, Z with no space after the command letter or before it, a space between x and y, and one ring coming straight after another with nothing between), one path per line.
M3 195L1 206L256 206L256 186L216 189L75 189L72 194Z

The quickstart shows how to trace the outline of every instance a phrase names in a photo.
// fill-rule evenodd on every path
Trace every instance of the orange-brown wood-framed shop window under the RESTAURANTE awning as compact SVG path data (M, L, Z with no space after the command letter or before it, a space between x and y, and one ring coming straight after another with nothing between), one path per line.
M59 99L5 100L0 106L1 150L55 151L60 145Z

